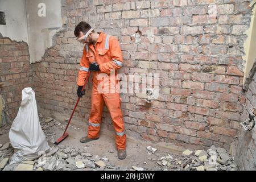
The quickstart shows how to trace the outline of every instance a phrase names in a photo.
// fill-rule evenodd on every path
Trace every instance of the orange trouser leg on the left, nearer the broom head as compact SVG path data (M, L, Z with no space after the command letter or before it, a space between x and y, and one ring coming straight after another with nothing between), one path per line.
M104 99L97 88L92 88L92 109L90 110L88 138L97 138L100 136L101 115L104 106Z

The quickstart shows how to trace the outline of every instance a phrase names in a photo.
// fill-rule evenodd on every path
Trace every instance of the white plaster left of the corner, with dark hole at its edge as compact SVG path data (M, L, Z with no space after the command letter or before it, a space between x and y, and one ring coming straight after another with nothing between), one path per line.
M0 0L0 11L5 12L6 20L6 25L0 24L2 36L28 43L25 0Z

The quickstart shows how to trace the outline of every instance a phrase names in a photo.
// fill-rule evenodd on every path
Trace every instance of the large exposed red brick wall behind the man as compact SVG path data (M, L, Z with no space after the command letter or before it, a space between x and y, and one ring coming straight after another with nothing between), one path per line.
M85 20L97 31L117 36L125 59L121 73L147 71L148 35L153 39L150 73L159 73L159 99L147 106L139 94L122 94L127 135L228 149L245 103L241 56L250 22L247 5L247 0L63 1L63 30L42 61L32 65L40 110L59 118L71 114L82 55L73 30ZM87 90L75 119L89 117ZM113 129L106 109L102 122Z

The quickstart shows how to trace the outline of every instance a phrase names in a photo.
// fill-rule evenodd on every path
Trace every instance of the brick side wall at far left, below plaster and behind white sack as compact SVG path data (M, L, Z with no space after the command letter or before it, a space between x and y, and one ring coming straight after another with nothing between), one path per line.
M4 82L0 94L12 120L18 113L22 89L32 86L27 43L0 38L0 78Z

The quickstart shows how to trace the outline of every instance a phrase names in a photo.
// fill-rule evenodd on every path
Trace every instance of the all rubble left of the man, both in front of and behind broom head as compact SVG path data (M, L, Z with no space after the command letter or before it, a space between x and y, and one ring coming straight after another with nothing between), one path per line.
M53 126L57 126L60 130L64 130L66 123L61 123L53 118L44 118L42 114L39 114L40 125L46 135L48 142L55 142L56 133ZM80 130L70 125L75 130ZM6 130L6 132L8 132ZM25 171L70 171L70 170L108 170L115 169L115 167L109 162L109 159L105 156L100 158L98 155L91 155L86 151L86 147L69 148L66 146L52 146L50 150L45 154L42 152L40 158L34 161L24 161L18 164L9 164L11 155L13 155L14 149L10 143L0 143L0 171L9 170L25 170ZM113 152L113 151L111 151Z

